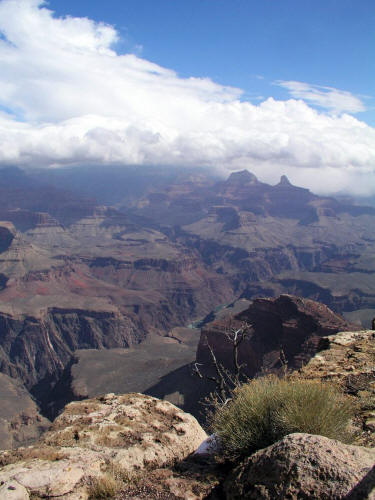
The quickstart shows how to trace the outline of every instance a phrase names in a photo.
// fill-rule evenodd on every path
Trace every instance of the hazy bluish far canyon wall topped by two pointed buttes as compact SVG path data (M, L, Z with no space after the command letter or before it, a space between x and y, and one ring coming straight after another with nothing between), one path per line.
M341 313L375 310L372 207L242 171L213 185L174 184L141 200L136 213L178 224L177 241L245 298L291 293Z

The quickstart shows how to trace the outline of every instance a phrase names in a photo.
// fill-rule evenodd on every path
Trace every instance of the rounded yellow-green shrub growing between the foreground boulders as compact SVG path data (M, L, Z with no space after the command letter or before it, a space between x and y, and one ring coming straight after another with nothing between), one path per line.
M221 439L224 455L236 459L293 432L351 442L353 416L352 400L335 385L267 376L243 384L229 403L218 405L212 429Z

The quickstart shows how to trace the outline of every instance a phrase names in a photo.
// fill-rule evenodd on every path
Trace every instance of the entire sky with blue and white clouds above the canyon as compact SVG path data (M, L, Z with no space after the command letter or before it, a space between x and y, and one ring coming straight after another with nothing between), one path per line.
M373 0L0 0L0 165L375 195Z

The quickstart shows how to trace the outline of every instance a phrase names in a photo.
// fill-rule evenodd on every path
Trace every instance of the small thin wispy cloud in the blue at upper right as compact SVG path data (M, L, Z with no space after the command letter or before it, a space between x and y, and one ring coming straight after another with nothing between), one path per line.
M366 109L359 97L346 90L296 81L279 80L275 83L287 89L292 97L303 99L334 113L359 113Z

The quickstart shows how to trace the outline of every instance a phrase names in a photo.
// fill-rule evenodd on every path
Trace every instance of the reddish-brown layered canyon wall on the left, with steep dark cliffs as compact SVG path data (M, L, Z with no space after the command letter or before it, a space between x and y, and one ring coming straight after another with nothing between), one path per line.
M75 350L129 347L233 298L196 252L114 210L1 235L0 372L43 405Z

